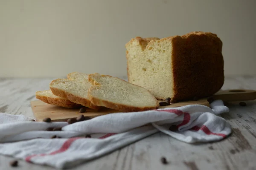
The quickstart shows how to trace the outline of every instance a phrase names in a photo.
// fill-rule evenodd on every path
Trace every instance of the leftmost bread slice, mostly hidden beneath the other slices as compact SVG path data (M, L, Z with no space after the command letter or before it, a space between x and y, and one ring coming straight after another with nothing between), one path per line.
M55 96L52 94L51 90L47 91L37 91L35 92L35 97L45 103L48 103L50 105L56 105L61 106L64 108L79 108L81 105L70 102L68 99Z

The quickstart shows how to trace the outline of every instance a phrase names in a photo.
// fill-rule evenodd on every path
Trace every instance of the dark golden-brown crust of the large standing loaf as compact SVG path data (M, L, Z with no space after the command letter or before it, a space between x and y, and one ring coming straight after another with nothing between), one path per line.
M199 98L211 96L224 84L222 42L216 34L194 31L183 36L151 39L150 41L136 37L131 39L126 47L134 40L139 42L143 51L155 41L172 42L173 70L170 70L174 77L172 98L177 101L190 100L194 96ZM129 51L126 52L126 58L127 75L130 80L128 57Z

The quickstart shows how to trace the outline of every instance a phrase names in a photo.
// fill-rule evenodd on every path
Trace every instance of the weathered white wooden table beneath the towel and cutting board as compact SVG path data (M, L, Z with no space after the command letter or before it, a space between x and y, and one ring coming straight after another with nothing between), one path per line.
M35 91L49 89L44 79L0 79L0 112L23 114L33 118L30 101ZM256 77L225 77L223 90L246 88L256 90ZM256 101L229 103L227 119L233 133L220 142L186 144L163 133L156 133L99 159L72 170L256 170ZM165 156L168 165L161 163ZM19 161L19 167L9 167L11 157L0 156L0 170L52 170L52 167Z

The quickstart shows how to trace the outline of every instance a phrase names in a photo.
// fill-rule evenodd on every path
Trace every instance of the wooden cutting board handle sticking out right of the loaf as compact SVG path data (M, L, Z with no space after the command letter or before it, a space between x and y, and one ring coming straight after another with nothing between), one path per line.
M230 89L218 91L213 95L215 100L221 99L224 102L239 102L256 99L256 91L246 89Z

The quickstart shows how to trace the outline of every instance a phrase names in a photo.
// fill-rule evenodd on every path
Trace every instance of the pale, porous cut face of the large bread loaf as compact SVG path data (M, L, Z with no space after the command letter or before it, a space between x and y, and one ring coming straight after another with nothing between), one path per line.
M171 42L151 40L142 44L136 39L127 43L126 48L129 82L148 89L157 99L172 97Z

